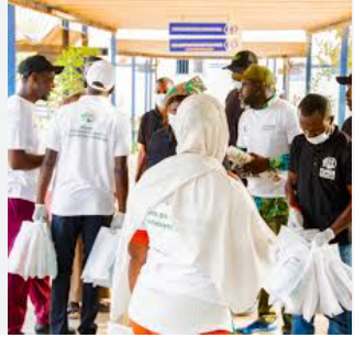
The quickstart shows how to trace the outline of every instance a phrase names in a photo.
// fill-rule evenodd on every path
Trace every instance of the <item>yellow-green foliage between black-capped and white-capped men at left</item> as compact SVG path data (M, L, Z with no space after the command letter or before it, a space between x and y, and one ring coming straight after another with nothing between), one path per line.
M70 46L58 56L55 64L65 69L55 78L55 89L48 102L52 108L59 106L65 99L84 91L84 79L78 69L84 68L85 58L98 55L98 48Z

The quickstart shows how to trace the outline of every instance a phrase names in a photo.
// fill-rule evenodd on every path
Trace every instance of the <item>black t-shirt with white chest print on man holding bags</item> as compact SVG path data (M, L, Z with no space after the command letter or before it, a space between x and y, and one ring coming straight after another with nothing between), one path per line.
M324 230L347 207L352 185L352 142L338 128L320 145L310 144L303 135L291 145L290 171L296 173L297 202L305 227ZM349 244L349 232L335 241Z

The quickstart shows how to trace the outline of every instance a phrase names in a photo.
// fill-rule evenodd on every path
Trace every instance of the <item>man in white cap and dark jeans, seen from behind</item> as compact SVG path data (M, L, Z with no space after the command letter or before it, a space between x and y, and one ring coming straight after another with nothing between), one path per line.
M119 216L128 196L129 128L111 105L114 68L96 61L87 74L87 95L62 106L53 117L41 170L34 219L47 218L44 196L54 169L52 236L58 274L52 285L51 334L68 333L67 303L75 247L82 236L84 264L102 226L110 226L114 193ZM95 335L98 288L84 283L81 335Z

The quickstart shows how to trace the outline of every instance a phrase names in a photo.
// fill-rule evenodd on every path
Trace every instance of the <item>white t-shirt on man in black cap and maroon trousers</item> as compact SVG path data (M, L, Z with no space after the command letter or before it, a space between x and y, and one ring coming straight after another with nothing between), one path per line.
M40 147L34 127L35 104L12 95L8 99L8 150L36 155ZM8 198L35 202L38 169L13 170L8 166Z

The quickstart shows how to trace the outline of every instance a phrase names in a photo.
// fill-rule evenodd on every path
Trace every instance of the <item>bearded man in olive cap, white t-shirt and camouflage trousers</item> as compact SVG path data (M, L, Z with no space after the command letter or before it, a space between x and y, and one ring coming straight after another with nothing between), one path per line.
M300 134L297 113L295 106L275 94L276 79L267 67L250 66L242 83L242 99L247 109L240 119L237 147L253 156L244 167L251 174L247 189L264 221L278 234L288 218L285 184L290 145ZM289 334L291 318L284 315L284 333ZM262 291L258 319L239 331L247 335L276 328L276 314L268 305L268 295Z

